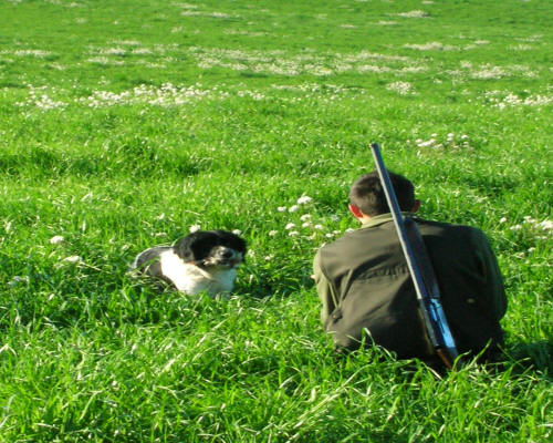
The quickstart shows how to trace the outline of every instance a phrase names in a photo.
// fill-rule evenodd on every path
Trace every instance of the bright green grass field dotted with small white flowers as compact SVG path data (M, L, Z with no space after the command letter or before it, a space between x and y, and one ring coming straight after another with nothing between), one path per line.
M0 442L551 441L552 16L0 1ZM489 235L503 370L333 354L311 261L369 142L424 217ZM126 275L196 227L248 240L230 300Z

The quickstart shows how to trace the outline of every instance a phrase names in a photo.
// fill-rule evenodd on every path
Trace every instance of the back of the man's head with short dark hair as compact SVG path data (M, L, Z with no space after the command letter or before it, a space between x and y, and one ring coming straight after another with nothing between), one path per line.
M394 174L389 171L388 175L392 186L394 186L399 208L404 212L411 210L415 206L415 187L413 183L403 175ZM349 203L371 217L390 212L376 171L362 175L355 181L349 189Z

